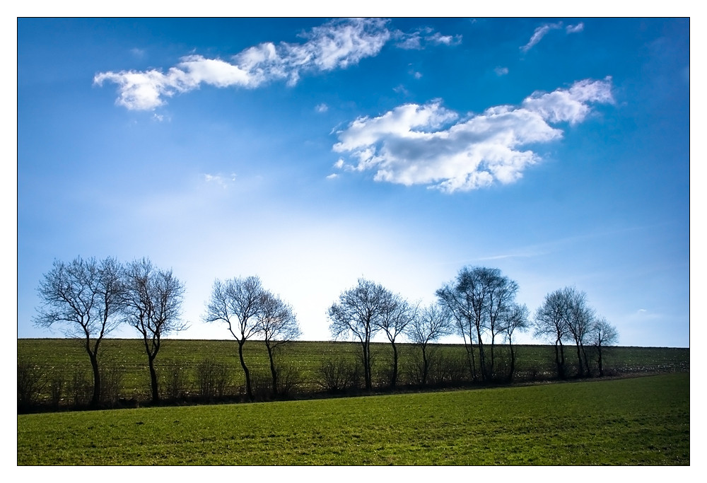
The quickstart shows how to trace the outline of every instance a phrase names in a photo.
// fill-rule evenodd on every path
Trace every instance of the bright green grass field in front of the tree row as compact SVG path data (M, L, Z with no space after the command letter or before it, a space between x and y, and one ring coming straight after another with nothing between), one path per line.
M23 414L18 465L689 465L687 373Z

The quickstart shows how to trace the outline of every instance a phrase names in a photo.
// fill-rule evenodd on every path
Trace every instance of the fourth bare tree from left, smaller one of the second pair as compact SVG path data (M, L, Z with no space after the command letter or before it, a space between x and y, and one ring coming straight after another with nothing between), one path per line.
M272 375L272 392L278 393L278 370L275 366L274 354L278 349L294 339L300 337L302 332L297 323L292 307L268 291L263 291L259 301L257 325L263 336L270 359L270 373Z

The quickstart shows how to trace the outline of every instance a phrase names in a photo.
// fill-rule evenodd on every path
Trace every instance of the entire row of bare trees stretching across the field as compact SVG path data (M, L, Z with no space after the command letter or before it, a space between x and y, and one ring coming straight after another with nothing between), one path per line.
M327 309L329 330L333 339L353 340L358 345L354 371L357 378L358 368L362 369L365 390L373 388L370 348L378 334L385 336L392 350L387 381L390 388L395 388L399 380L401 340L419 351L418 378L421 385L426 385L433 345L454 334L464 342L465 365L472 383L513 380L517 357L513 337L530 330L534 337L554 346L558 378L592 376L594 368L598 376L604 376L602 349L618 342L618 332L595 313L586 294L573 287L559 289L547 294L531 315L515 300L518 289L518 284L499 269L462 267L455 279L436 291L436 301L423 306L361 278ZM67 337L81 340L88 355L93 373L90 406L100 405L101 388L106 387L98 361L101 342L121 324L131 325L139 334L148 361L151 400L160 401L155 361L162 339L187 328L181 317L185 286L171 269L155 267L147 258L127 263L112 257L55 260L37 291L42 305L33 318L35 325L61 325ZM285 344L301 337L292 306L264 289L259 277L216 279L202 320L226 325L238 342L249 400L255 400L255 395L243 347L249 339L262 341L269 359L271 390L277 397L282 387L277 354ZM571 349L576 356L571 356ZM576 364L569 363L571 357L576 357ZM570 367L576 367L577 373L570 374ZM207 363L199 371L213 375L217 369ZM25 368L18 362L18 403L21 380L25 384L28 380L25 374L21 378L21 370ZM349 368L336 361L322 364L321 373L330 389L346 385L344 379L354 377Z

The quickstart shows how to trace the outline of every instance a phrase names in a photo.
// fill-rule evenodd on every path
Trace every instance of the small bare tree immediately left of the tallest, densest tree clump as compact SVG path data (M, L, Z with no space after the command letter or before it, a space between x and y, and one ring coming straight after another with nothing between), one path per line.
M450 314L442 305L431 303L422 310L418 310L406 327L405 333L410 342L417 344L422 351L421 382L427 384L431 356L429 344L440 337L453 332Z

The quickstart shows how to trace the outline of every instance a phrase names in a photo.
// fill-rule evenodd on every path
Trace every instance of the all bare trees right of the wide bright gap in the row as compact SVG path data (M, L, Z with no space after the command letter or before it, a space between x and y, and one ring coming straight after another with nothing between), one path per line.
M554 344L559 378L568 376L563 345L568 342L576 346L577 376L590 375L588 346L597 355L603 376L602 349L615 344L618 333L606 319L597 317L586 294L571 287L550 293L531 318L527 306L515 300L518 289L518 283L499 269L462 267L455 279L436 291L436 302L421 307L380 284L359 279L329 307L329 330L334 339L353 339L360 344L367 390L371 388L370 342L378 332L385 333L392 346L392 387L397 383L396 343L401 335L421 350L423 384L429 370L428 344L450 334L464 341L472 380L489 382L513 380L514 334L531 328L534 337ZM503 351L504 361L509 361L502 368L498 366L499 351Z

